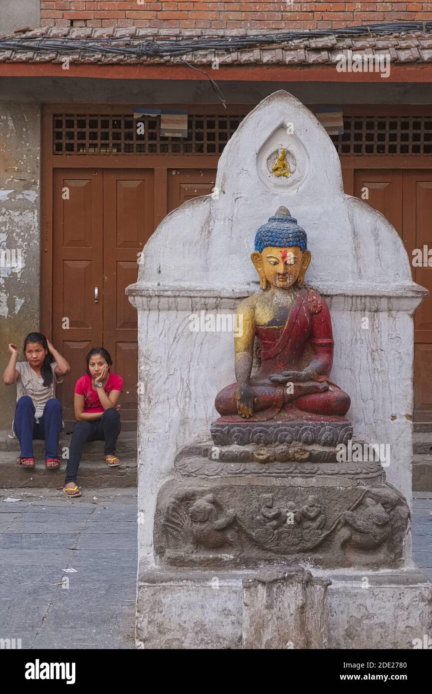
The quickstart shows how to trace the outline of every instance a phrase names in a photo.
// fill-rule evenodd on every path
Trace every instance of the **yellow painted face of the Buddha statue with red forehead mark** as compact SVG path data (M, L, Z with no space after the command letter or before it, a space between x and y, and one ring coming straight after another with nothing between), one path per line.
M261 289L279 287L289 289L295 284L302 286L304 273L311 262L311 253L299 246L266 246L261 253L250 256L259 274Z

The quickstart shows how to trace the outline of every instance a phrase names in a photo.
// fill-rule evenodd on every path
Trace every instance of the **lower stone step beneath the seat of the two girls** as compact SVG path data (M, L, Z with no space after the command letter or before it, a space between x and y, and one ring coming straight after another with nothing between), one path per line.
M43 487L61 489L64 486L66 461L60 462L58 470L46 470L44 461L36 459L31 470L19 467L19 457L15 451L0 451L0 489L23 487ZM103 458L80 462L78 484L92 489L103 487L131 487L137 485L137 458L121 458L119 468L109 468Z

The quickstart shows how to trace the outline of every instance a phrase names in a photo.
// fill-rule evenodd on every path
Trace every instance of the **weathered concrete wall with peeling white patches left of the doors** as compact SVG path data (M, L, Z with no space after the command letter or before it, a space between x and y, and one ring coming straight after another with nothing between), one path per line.
M40 108L0 104L0 371L8 343L21 353L40 318ZM15 387L0 383L0 429L10 428Z

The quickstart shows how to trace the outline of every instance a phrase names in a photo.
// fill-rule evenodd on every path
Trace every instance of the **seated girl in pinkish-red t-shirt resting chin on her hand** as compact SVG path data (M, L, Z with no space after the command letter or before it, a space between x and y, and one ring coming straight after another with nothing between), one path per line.
M76 423L69 448L64 493L81 496L76 475L87 441L105 441L105 460L108 467L118 468L116 441L121 425L117 405L123 389L123 378L111 373L112 359L103 347L95 347L85 357L87 373L75 385L74 409Z

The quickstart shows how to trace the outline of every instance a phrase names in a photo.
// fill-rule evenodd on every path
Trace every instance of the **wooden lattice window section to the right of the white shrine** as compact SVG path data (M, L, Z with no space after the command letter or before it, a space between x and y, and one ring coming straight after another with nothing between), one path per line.
M343 135L332 135L338 154L432 154L431 116L377 116L343 119Z

